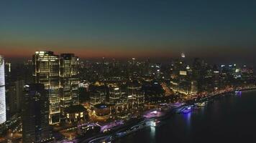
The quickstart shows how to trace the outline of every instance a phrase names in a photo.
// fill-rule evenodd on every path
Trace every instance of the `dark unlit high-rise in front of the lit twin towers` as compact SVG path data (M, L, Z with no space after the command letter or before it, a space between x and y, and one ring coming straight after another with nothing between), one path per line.
M22 106L23 142L50 142L49 95L44 84L29 84L24 88Z

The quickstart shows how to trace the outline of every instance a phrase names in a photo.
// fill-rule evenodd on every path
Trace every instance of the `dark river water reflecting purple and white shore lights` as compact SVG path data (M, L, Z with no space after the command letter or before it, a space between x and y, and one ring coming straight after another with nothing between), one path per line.
M175 114L163 122L116 142L256 143L256 91L214 99L203 109Z

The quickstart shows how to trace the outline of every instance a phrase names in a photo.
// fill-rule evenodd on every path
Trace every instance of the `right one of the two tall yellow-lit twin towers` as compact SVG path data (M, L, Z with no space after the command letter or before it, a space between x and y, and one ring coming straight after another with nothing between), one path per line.
M60 107L65 109L79 104L78 57L74 54L60 54Z

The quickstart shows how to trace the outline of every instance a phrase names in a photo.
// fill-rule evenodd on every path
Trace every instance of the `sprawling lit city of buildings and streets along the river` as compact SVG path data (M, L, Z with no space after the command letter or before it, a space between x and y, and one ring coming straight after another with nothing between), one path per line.
M252 66L191 61L184 52L163 64L136 58L83 62L75 54L35 51L31 61L2 63L1 69L6 114L0 141L11 142L133 142L125 139L132 132L155 134L169 117L190 120L221 97L239 99L242 91L256 89Z

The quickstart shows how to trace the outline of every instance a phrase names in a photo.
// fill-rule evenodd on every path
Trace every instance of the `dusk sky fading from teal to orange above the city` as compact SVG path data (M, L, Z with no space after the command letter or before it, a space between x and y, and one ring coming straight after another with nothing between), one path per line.
M0 1L0 54L255 62L256 1Z

